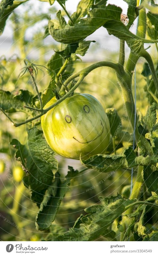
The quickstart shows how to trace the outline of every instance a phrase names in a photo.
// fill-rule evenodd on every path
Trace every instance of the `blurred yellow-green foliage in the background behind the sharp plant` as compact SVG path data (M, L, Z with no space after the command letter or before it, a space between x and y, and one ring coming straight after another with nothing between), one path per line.
M45 3L47 4L47 3ZM48 23L49 15L55 15L55 8L49 8L48 12L39 9L38 13L34 10L34 5L25 4L25 11L21 13L15 10L11 16L12 33L12 55L10 58L2 55L0 57L0 83L3 90L8 90L14 95L19 93L19 90L29 90L33 95L36 95L29 72L26 72L22 77L19 77L21 69L24 67L23 59L27 58L30 62L46 66L51 55L55 50L61 50L62 45L50 40L49 43L44 39L46 24ZM64 12L63 12L64 15ZM32 31L34 31L32 33ZM29 34L31 33L31 34ZM27 40L29 35L29 40ZM51 36L49 36L51 38ZM117 42L116 42L117 43ZM99 55L108 57L111 60L117 60L118 53L112 49L105 49L101 47L98 42L92 43L88 51L94 54L95 59ZM106 40L104 41L106 45ZM152 46L151 52L155 51L155 46ZM96 56L96 50L98 57ZM88 55L86 61L77 59L74 62L73 69L79 71L82 68L90 65L88 62ZM143 71L144 62L140 60L137 64L136 74L136 99L137 109L140 115L144 115L147 107L150 104L149 93L144 90L146 88L147 79L141 74ZM37 85L39 91L43 91L50 82L50 76L45 68L40 67L37 75ZM65 74L66 77L66 74ZM63 79L65 79L63 76ZM150 80L150 74L148 81ZM134 81L133 81L134 82ZM129 120L124 120L122 117L127 116L123 104L121 89L118 86L116 75L110 68L99 67L87 75L84 82L77 90L78 92L91 93L106 106L106 108L114 107L120 118L122 119L122 126L124 131L132 132ZM23 112L10 114L16 120L24 120L29 118L29 112L26 109ZM35 218L38 208L30 199L30 192L27 190L21 181L23 177L23 170L14 160L15 150L9 145L12 138L16 138L20 143L26 142L27 130L30 124L22 125L15 128L6 119L5 115L1 114L0 122L0 174L1 174L1 200L0 200L0 239L2 241L39 241L40 239L47 239L48 233L62 233L74 225L76 219L80 216L88 206L98 203L99 196L116 195L121 193L125 186L130 185L131 170L119 170L108 177L105 173L88 170L76 179L73 179L70 185L70 191L67 192L60 210L57 214L56 220L51 226L51 229L45 232L36 231ZM38 128L41 129L40 124ZM122 152L131 143L124 143L117 153ZM81 163L77 160L67 160L57 156L59 161L59 171L61 176L67 173L67 166L82 169ZM134 172L135 178L135 172ZM100 185L96 185L98 182ZM88 188L92 188L89 189ZM124 196L126 196L124 194ZM60 225L60 228L59 228ZM114 225L114 224L113 224ZM101 238L100 240L106 240ZM116 239L115 239L116 240Z

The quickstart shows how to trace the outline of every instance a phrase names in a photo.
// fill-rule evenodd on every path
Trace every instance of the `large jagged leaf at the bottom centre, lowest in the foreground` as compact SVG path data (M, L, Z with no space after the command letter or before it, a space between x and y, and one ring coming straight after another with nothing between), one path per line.
M102 205L93 205L85 209L88 213L79 217L78 228L70 228L64 235L52 239L52 241L94 241L100 235L111 237L114 234L107 229L111 223L119 217L125 210L125 203L131 204L121 199L106 204L101 200Z

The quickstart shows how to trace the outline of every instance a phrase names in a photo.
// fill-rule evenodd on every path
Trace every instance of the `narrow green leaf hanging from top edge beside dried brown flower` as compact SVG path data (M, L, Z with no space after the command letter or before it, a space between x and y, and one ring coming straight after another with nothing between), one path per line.
M123 0L123 1L125 1L128 4L128 10L127 10L127 16L129 18L128 27L131 27L131 25L133 24L136 18L135 9L137 6L137 0Z

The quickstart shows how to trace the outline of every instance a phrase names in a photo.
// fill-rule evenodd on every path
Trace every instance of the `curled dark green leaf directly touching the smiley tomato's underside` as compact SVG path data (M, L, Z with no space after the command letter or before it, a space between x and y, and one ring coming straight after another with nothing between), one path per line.
M95 155L87 160L80 159L81 163L89 169L94 169L98 172L116 171L122 168L128 168L125 156L121 155Z

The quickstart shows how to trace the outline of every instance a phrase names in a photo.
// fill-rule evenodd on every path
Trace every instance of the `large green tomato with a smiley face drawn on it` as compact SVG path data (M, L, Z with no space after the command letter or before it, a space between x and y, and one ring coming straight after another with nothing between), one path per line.
M54 97L44 108L55 102ZM89 94L66 98L41 117L41 125L51 149L67 158L103 154L109 144L108 117L100 102Z

